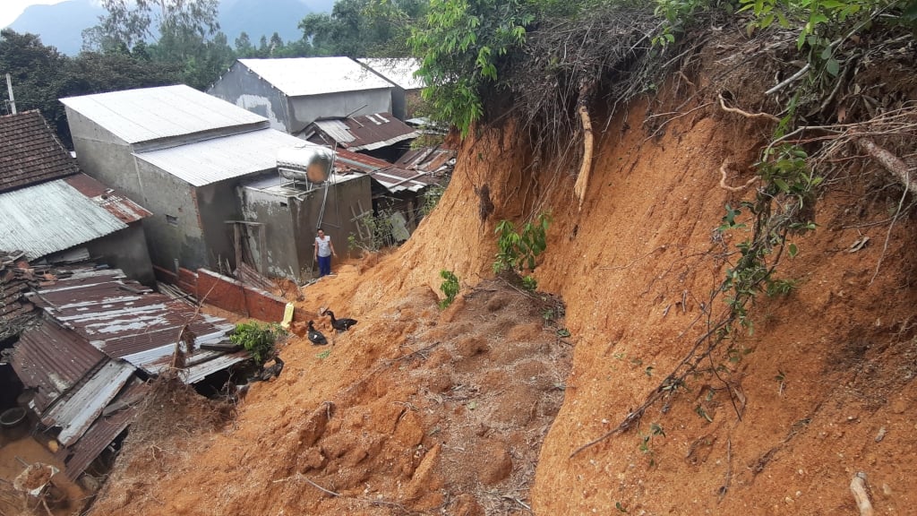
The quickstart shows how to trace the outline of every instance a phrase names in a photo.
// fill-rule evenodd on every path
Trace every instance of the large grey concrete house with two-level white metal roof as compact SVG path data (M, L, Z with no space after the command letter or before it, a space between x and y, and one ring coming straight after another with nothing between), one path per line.
M185 85L61 102L83 170L143 199L153 212L147 220L153 264L170 271L179 266L223 270L226 264L238 268L245 262L262 275L300 278L301 271L288 266L298 267L298 257L282 256L280 250L284 239L311 246L314 230L275 233L271 219L245 219L238 188L260 176L278 177L282 150L313 144L271 129L267 118ZM370 195L369 186L365 195ZM271 214L282 221L291 209L289 203L278 202ZM347 249L347 234L331 234L341 239L335 241L338 249ZM253 246L259 251L251 252Z

